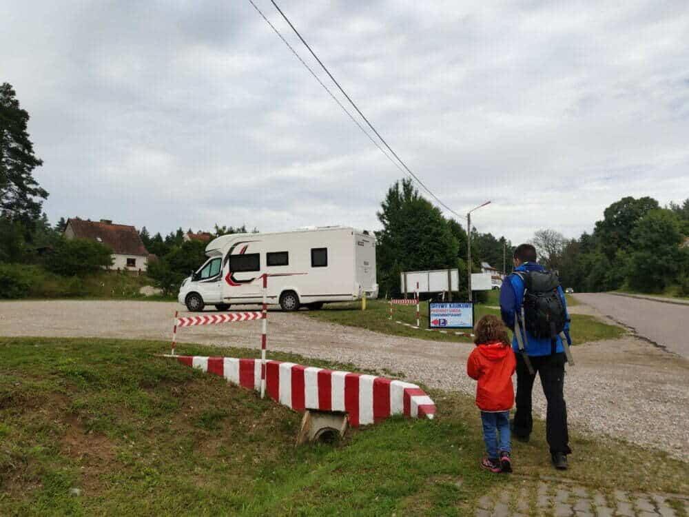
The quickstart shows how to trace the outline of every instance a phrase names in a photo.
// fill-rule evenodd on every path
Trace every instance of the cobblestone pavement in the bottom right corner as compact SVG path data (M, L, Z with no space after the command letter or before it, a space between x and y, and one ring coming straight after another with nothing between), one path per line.
M478 500L475 517L688 517L689 496L599 491L562 479L523 479Z

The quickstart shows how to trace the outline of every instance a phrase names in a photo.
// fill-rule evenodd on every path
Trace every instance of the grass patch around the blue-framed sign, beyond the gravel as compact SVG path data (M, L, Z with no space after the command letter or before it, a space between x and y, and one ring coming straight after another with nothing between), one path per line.
M492 294L492 292L491 292ZM493 309L491 298L486 305L475 305L474 318L478 321L484 314L500 316L500 310ZM384 300L369 300L365 311L361 310L360 302L329 303L322 310L305 312L311 318L329 323L360 327L373 332L382 332L393 336L407 336L429 341L459 341L468 342L471 338L455 336L454 334L440 334L440 332L426 332L416 330L399 323L416 325L415 307L413 305L395 305L393 307L393 319L389 319L390 305ZM421 327L428 327L428 303L421 302L420 307ZM621 327L608 325L597 320L593 316L572 314L571 334L574 344L589 343L601 339L614 339L626 333ZM469 330L466 330L469 332ZM450 331L451 332L451 331Z

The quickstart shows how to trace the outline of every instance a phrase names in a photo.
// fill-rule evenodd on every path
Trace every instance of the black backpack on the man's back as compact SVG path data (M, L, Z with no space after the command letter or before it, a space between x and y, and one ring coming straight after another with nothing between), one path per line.
M524 326L535 338L551 338L564 330L565 309L553 272L515 271L524 281Z

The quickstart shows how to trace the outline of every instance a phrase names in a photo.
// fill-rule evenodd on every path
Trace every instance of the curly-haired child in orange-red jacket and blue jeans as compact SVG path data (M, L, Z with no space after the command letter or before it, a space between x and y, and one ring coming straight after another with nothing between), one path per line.
M507 329L497 316L484 316L474 330L476 347L466 361L466 373L478 381L476 405L481 409L486 457L481 466L491 472L512 472L510 409L515 402L512 374L517 361Z

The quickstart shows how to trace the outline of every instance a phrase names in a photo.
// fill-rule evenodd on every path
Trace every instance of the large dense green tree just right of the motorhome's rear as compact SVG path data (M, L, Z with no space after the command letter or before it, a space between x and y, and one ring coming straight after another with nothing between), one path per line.
M400 271L457 266L457 239L440 210L420 196L411 179L395 182L381 209L376 262L382 292L400 292Z

